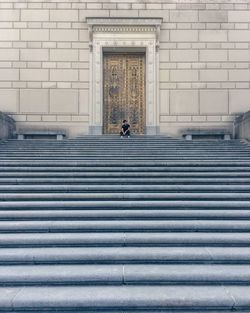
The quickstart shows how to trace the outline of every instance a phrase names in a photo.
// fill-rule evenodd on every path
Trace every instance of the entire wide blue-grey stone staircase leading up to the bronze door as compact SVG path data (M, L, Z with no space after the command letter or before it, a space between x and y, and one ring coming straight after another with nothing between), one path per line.
M0 312L250 312L250 146L0 143Z

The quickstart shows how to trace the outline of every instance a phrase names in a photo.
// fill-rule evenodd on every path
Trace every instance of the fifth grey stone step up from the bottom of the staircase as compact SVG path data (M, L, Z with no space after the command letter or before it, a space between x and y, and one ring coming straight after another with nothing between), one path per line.
M1 221L0 232L250 232L250 220L35 220Z

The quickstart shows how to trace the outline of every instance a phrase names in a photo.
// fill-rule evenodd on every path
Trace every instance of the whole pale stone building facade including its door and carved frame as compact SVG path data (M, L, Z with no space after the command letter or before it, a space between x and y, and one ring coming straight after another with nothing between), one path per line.
M249 64L249 0L0 2L0 111L19 129L231 129Z

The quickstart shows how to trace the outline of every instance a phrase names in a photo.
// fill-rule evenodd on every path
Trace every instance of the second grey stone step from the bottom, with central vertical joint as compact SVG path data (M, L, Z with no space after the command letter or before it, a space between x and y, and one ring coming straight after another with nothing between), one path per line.
M0 286L246 285L250 265L12 265L0 266Z

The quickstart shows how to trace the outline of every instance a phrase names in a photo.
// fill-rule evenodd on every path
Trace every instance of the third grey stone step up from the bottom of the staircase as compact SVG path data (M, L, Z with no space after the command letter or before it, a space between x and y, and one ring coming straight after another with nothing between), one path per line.
M250 247L2 248L0 264L250 264Z

